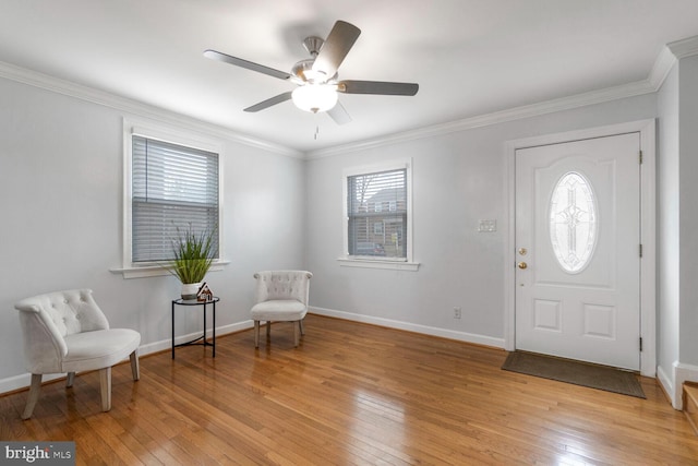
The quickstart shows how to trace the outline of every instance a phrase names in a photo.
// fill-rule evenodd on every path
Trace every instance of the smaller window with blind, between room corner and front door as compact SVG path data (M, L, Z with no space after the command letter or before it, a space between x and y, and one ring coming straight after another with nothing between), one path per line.
M345 172L342 265L417 270L411 262L410 179L409 163Z

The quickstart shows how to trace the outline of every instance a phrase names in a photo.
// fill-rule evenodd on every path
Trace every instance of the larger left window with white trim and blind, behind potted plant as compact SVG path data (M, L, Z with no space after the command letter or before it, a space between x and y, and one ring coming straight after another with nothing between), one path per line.
M219 260L218 145L125 123L124 146L124 276L161 275L160 264L172 259L172 240L182 230L216 232Z

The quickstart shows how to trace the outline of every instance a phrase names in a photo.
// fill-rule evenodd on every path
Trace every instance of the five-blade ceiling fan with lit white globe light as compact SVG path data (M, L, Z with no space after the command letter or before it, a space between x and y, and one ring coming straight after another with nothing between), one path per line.
M360 34L361 29L353 24L337 21L327 39L323 40L315 36L306 37L303 40L303 46L312 58L296 63L290 73L216 50L204 51L204 57L278 77L279 80L290 81L298 86L293 91L248 107L244 111L260 111L286 100L293 100L293 104L302 110L313 113L326 111L335 122L344 124L351 121L351 117L339 103L337 93L413 96L419 91L419 84L412 83L339 81L337 79L337 69Z

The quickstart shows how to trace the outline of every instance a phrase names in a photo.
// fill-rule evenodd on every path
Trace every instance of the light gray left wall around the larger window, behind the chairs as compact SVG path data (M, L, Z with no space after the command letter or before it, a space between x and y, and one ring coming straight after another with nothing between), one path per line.
M167 347L177 279L110 272L122 265L122 117L133 116L4 79L0 101L0 392L28 381L13 303L36 294L92 288L112 326L139 330L146 350ZM256 270L304 266L305 175L301 158L220 141L230 264L207 282L217 325L234 328ZM198 313L178 316L178 334L200 327Z

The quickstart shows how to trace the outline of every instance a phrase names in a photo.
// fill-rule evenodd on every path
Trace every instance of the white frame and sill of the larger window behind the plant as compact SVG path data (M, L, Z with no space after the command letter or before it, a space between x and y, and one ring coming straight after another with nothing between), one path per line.
M170 273L157 262L133 262L133 136L157 140L171 144L177 144L195 150L213 152L218 154L218 259L216 259L209 271L220 271L229 263L225 258L224 244L224 151L222 144L212 138L192 133L185 130L176 129L149 122L133 121L123 119L123 256L122 268L112 268L112 272L122 273L124 278L142 278L151 276L169 275Z

